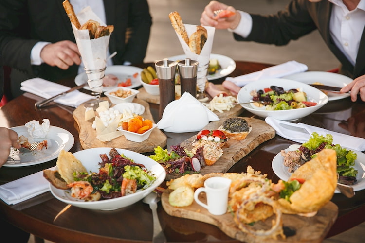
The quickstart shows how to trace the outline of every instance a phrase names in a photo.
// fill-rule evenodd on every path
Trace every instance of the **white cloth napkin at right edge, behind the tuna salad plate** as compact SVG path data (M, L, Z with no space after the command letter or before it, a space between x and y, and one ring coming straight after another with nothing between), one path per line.
M324 128L307 125L304 123L291 123L287 121L280 121L272 117L265 118L267 124L271 125L276 133L283 138L296 141L299 143L307 142L310 139L313 132L319 135L326 136L326 134L331 134L333 137L333 144L340 144L342 147L347 147L349 149L364 151L365 150L365 139L350 136L347 134L337 133L329 131ZM292 129L290 129L292 127ZM301 132L304 129L306 132Z

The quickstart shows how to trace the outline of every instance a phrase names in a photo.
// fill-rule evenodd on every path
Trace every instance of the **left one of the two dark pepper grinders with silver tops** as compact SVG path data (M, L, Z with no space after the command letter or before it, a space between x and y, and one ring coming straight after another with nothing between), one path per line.
M159 120L161 120L167 104L175 100L176 65L177 63L175 61L169 61L168 58L164 58L155 63L160 89Z

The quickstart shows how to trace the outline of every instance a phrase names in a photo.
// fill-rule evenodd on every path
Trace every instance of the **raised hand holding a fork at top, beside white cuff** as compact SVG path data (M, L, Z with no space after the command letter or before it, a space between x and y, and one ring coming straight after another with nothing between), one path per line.
M235 29L241 20L241 15L237 13L231 17L215 19L214 11L219 9L236 13L236 9L232 6L228 6L219 1L211 1L205 6L204 11L201 13L201 25L213 26L216 29Z

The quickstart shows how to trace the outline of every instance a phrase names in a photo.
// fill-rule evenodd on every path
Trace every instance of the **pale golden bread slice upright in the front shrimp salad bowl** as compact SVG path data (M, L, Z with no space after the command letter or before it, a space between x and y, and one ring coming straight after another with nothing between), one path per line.
M74 181L74 172L87 172L86 168L82 165L71 152L61 150L56 162L58 172L67 184Z

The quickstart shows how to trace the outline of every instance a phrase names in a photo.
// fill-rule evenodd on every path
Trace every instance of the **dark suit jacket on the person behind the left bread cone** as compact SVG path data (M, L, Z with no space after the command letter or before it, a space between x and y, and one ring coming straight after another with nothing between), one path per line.
M63 0L1 0L0 50L5 66L12 68L11 93L23 93L20 83L33 77L50 81L72 77L78 66L68 70L46 64L32 66L30 53L38 41L75 42L71 22L62 6ZM114 25L110 36L110 53L117 51L114 65L124 61L142 63L146 56L152 17L146 0L104 0L108 25ZM126 40L128 42L126 43Z

